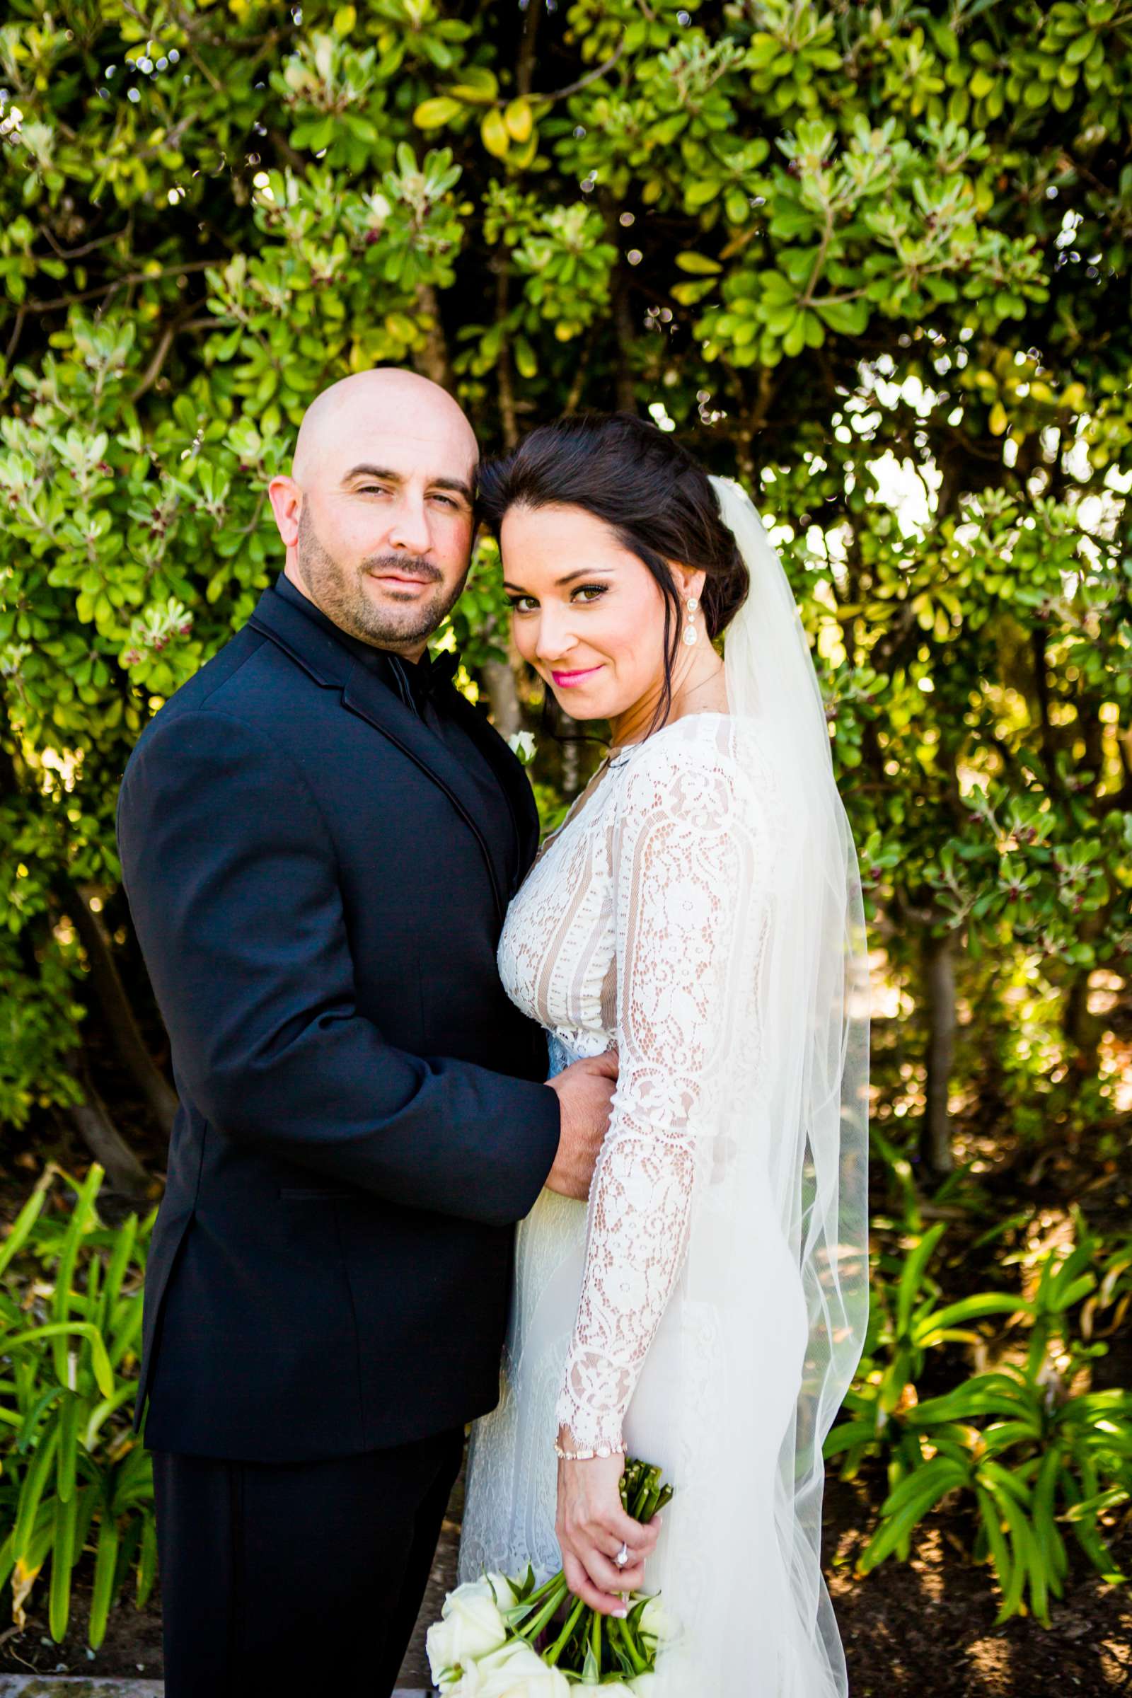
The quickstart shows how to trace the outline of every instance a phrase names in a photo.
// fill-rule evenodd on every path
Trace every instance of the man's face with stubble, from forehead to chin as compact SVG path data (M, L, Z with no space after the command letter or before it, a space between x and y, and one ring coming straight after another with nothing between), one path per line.
M300 588L353 637L419 654L468 574L474 477L455 409L395 433L372 418L334 431L304 472Z

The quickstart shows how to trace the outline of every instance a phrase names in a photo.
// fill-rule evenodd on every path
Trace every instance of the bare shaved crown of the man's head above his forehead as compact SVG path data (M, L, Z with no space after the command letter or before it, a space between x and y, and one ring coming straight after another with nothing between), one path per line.
M463 409L446 389L395 365L353 372L316 396L302 416L290 475L300 489L375 435L409 433L475 467L479 448Z

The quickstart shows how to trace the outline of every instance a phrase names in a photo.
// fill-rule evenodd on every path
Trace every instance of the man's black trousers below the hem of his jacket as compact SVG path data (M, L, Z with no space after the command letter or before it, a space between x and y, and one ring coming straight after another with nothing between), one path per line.
M389 1698L463 1428L326 1462L154 1450L166 1698Z

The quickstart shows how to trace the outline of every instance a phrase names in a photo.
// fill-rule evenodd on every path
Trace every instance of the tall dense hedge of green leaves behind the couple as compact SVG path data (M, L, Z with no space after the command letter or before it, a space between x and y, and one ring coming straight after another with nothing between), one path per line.
M129 749L277 569L304 406L382 362L485 450L619 404L748 481L891 971L916 1000L950 939L972 1090L1020 1131L1118 1107L1088 1012L1132 949L1113 0L14 0L0 71L0 1121L80 1095L68 915L114 902ZM490 547L453 644L496 703Z

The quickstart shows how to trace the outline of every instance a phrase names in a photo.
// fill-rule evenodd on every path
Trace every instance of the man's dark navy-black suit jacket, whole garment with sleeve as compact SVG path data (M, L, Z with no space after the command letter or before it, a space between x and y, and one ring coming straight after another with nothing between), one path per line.
M536 847L523 767L450 684ZM504 800L506 798L506 800ZM507 1000L484 791L333 630L265 591L119 796L180 1112L146 1270L151 1448L348 1455L499 1396L545 1034Z

